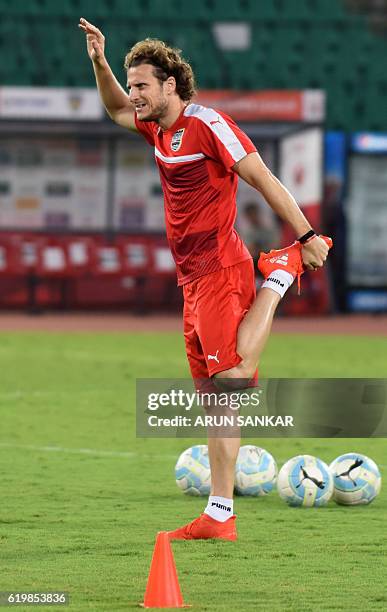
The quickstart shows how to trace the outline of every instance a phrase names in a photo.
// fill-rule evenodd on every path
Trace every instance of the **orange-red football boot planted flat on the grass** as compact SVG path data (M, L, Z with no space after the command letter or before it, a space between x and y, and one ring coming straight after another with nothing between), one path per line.
M199 518L175 529L175 531L168 531L170 540L230 540L235 542L237 539L237 532L235 526L235 514L231 516L227 521L221 523L216 521L208 514L201 514Z

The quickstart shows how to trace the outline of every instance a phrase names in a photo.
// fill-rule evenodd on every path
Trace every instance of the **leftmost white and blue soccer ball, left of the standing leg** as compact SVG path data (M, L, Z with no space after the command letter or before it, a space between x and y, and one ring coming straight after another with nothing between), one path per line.
M187 448L175 465L176 484L187 495L209 495L211 489L210 461L206 444Z

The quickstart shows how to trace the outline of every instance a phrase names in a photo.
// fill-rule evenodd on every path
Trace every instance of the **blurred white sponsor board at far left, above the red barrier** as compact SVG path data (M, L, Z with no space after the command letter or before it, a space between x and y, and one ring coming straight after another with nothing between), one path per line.
M77 138L0 141L0 226L104 229L107 146Z

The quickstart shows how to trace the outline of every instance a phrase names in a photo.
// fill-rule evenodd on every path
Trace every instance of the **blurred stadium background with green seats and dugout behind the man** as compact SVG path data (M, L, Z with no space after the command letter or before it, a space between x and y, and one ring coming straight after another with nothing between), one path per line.
M76 27L86 15L124 86L123 57L136 40L183 49L199 100L243 125L311 221L336 239L329 288L322 273L306 279L285 313L385 310L384 9L355 0L3 2L1 307L181 305L152 151L99 105ZM244 213L248 204L259 220ZM244 185L238 206L242 235L254 223L273 230L255 251L279 245L268 207Z

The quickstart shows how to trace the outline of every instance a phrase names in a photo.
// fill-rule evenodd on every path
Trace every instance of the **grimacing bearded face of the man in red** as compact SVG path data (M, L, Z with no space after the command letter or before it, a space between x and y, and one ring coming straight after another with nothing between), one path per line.
M161 83L153 74L153 66L140 64L129 68L127 80L129 98L140 121L157 121L168 110L167 82Z

